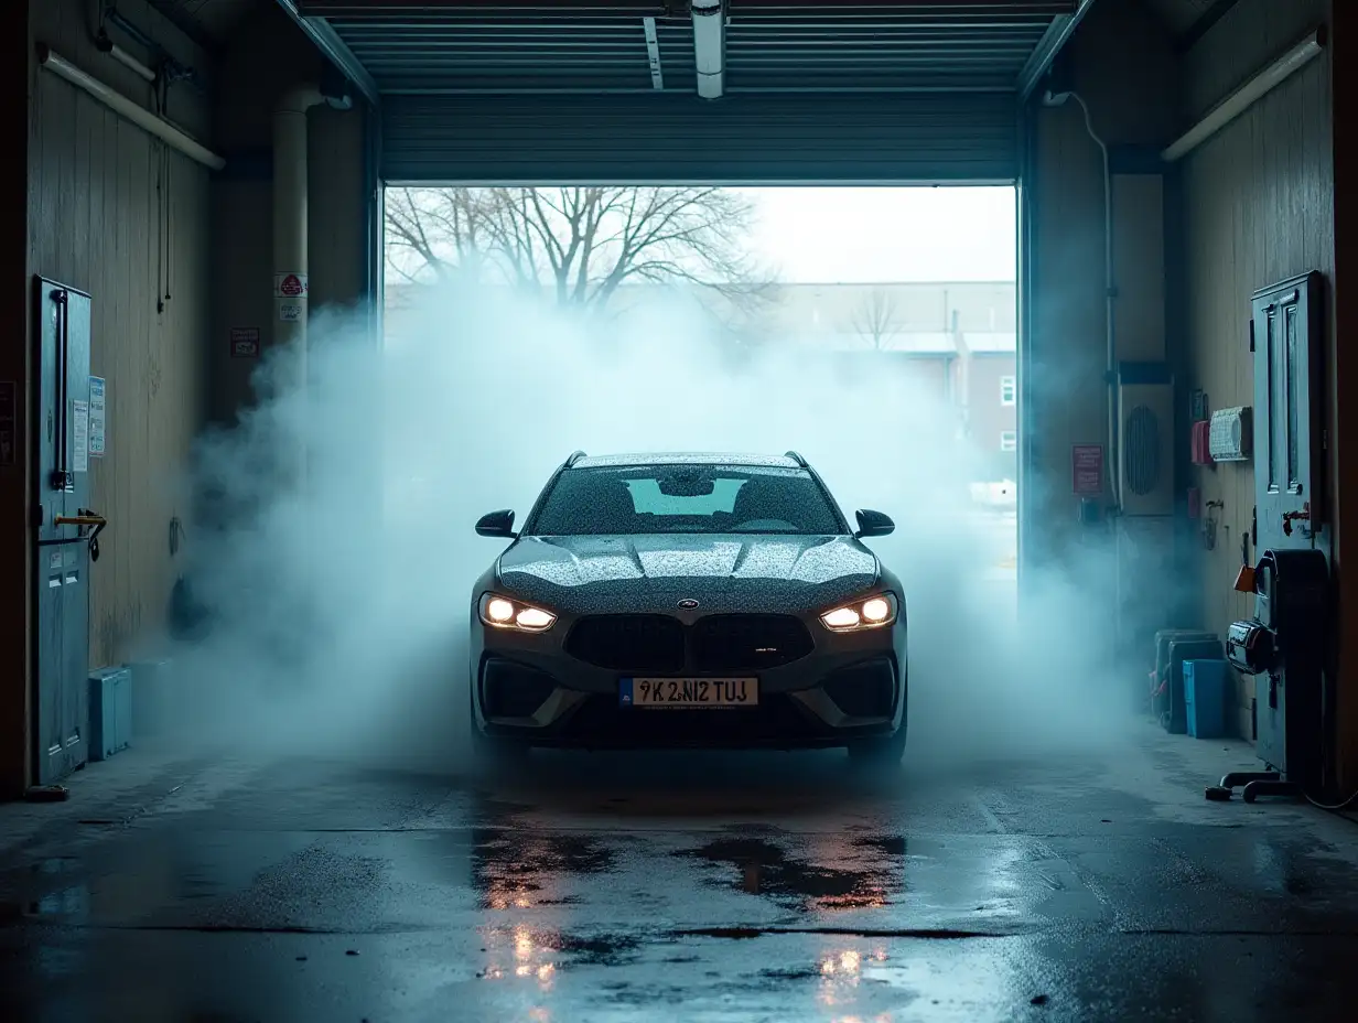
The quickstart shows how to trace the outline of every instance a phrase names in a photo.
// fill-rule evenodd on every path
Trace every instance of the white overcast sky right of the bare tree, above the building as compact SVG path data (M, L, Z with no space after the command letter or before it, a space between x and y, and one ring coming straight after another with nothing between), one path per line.
M1012 187L740 192L759 208L755 251L789 283L1014 280Z

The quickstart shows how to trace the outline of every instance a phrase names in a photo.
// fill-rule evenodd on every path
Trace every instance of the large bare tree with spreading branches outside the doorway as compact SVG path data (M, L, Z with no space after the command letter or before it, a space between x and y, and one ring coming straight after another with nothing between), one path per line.
M746 253L752 220L744 197L716 187L391 189L388 265L599 310L625 284L691 285L748 311L771 287Z

